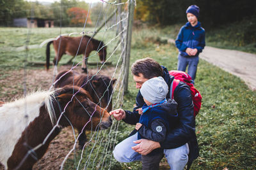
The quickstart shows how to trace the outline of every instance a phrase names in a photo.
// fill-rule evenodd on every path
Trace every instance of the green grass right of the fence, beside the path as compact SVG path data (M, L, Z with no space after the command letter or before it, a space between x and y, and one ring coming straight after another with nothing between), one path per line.
M177 67L177 50L173 45L132 48L131 56L131 62L152 57L168 69ZM129 87L135 97L131 79ZM248 89L240 78L204 60L199 62L195 82L203 102L196 117L200 157L191 169L255 168L256 92Z

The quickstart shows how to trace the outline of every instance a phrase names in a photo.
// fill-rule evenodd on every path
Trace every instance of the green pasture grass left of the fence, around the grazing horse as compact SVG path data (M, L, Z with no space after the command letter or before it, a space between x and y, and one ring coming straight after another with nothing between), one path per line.
M93 31L93 28L86 28L85 32L88 32L87 35L92 36L90 31ZM13 68L22 68L25 61L28 62L45 62L45 48L46 45L42 48L31 48L28 52L26 50L19 51L20 46L31 46L31 45L40 45L43 41L49 38L56 38L60 34L70 34L72 32L82 32L83 28L81 27L65 27L65 28L36 28L36 29L26 29L26 28L13 28L13 27L0 27L0 67L5 69ZM73 34L72 36L81 36L81 34ZM115 32L105 31L99 32L95 39L102 39L104 43L108 43L111 39L115 38ZM117 39L109 43L110 49L108 52L113 51L117 43ZM54 49L53 46L50 46L51 49L51 59L52 62L54 58ZM95 55L95 51L90 53L88 61L96 62L99 60L99 57L92 57ZM97 54L96 54L97 55ZM108 56L110 53L108 53ZM79 60L82 59L82 55L79 55ZM70 59L69 55L63 55L60 60L60 64L66 64ZM111 62L117 60L116 56L112 57ZM75 62L77 63L77 62Z

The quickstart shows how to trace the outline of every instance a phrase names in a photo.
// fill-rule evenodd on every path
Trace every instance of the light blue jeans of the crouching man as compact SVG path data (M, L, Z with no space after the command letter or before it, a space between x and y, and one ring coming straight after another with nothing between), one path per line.
M118 162L133 162L136 160L141 160L140 153L132 150L132 146L138 145L133 143L133 141L136 140L138 140L137 133L130 136L129 138L124 139L124 141L118 143L118 145L115 146L113 155ZM188 143L180 146L179 148L164 150L164 155L171 167L171 170L184 169L188 162L188 153Z

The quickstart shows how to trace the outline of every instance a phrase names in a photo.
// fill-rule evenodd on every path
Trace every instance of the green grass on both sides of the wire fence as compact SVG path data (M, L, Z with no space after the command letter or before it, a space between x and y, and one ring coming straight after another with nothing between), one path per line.
M63 28L61 33L78 32L79 28ZM152 57L169 70L177 67L177 48L170 44L157 44L157 37L168 37L177 30L159 29L134 31L130 64L137 59ZM28 29L0 28L0 80L8 70L22 68L24 61L45 61L45 48L17 52L15 49L28 41ZM35 31L35 32L33 32ZM60 29L33 29L29 33L29 45L38 45L47 38L56 37ZM109 38L114 32L108 32ZM108 38L108 35L106 38ZM102 35L101 35L102 36ZM100 34L96 38L100 38ZM112 45L114 46L114 45ZM54 55L51 51L52 57ZM109 53L108 53L109 55ZM26 59L26 57L28 58ZM97 57L98 58L98 57ZM62 60L62 64L68 60ZM115 57L112 60L115 64ZM42 69L42 67L28 67ZM8 75L12 76L12 75ZM195 87L203 97L202 108L196 117L196 136L200 146L200 157L191 169L255 169L256 167L256 92L246 87L241 79L216 66L200 60ZM40 84L40 82L38 82ZM2 85L1 88L2 89ZM124 109L132 110L138 90L130 74L129 92L124 96ZM0 99L3 97L1 93ZM127 138L134 127L120 122L115 143ZM96 155L92 155L96 156ZM110 159L109 157L106 158ZM76 164L68 159L66 169ZM119 164L112 160L111 169L140 169L140 162ZM168 169L163 160L161 169Z

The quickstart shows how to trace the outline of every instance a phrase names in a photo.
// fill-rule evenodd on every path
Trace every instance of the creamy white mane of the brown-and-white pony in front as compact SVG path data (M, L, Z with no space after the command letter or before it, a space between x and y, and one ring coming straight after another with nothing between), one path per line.
M30 92L26 97L19 97L15 99L13 102L5 103L2 107L6 108L22 108L24 106L31 106L36 103L45 104L45 108L49 113L49 117L51 118L52 125L56 123L56 115L53 109L52 101L55 99L55 91L42 91L38 90L36 92Z

